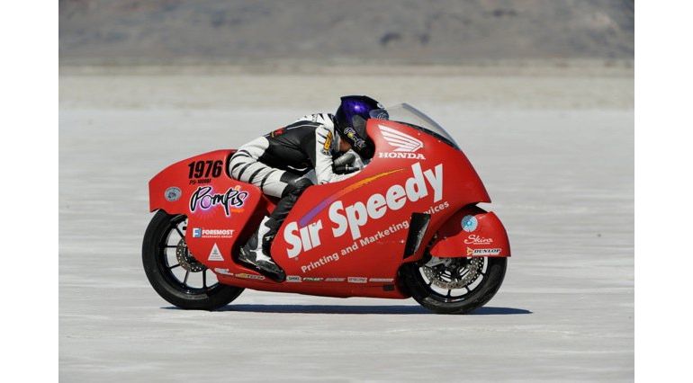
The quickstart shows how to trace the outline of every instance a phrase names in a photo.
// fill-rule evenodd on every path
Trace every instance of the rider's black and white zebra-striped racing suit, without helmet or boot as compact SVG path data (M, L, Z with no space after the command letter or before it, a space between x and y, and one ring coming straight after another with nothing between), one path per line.
M281 198L266 221L269 232L264 239L272 240L301 193L311 186L310 178L304 176L311 169L315 170L318 183L341 181L357 173L333 171L340 139L333 119L327 113L304 116L239 147L231 157L229 174L234 179Z

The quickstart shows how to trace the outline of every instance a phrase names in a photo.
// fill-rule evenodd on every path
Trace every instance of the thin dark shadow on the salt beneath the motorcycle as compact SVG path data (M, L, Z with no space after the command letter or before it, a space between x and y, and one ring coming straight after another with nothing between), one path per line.
M177 307L164 307L176 309ZM278 314L384 314L384 315L411 315L435 313L428 309L413 305L391 306L341 306L341 305L229 305L221 307L220 312L247 312L247 313L278 313ZM504 316L532 314L532 311L524 308L511 307L481 307L468 315L472 316Z

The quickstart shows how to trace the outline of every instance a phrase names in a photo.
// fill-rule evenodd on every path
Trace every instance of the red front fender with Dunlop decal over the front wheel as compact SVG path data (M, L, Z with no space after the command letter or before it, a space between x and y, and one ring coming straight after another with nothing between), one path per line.
M468 205L438 228L430 254L438 258L509 257L508 233L496 214Z

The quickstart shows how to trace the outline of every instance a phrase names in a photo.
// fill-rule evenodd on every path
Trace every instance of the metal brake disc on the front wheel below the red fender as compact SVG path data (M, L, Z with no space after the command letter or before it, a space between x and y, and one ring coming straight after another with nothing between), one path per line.
M463 262L464 260L464 262ZM441 289L463 289L476 281L483 268L483 258L432 257L422 269L428 281Z

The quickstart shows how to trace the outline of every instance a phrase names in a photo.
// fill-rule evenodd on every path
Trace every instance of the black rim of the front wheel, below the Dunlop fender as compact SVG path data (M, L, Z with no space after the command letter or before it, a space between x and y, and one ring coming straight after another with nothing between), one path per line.
M449 265L444 267L437 267L435 272L438 281L429 278L430 272L425 272L424 268L428 267L423 265L419 267L419 272L416 273L416 277L419 282L425 286L433 296L439 301L446 303L456 303L462 302L473 296L475 291L482 289L486 281L489 281L489 258L475 258L476 260L482 260L482 266L478 270L475 277L471 278L472 281L469 283L463 283L464 287L455 288L452 286L439 286L439 284L445 284L445 282L460 281L465 277L472 277L467 274L470 272L469 264L473 258L453 258ZM440 265L443 266L443 265Z

